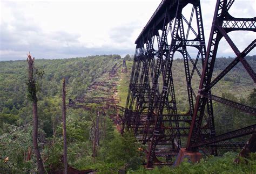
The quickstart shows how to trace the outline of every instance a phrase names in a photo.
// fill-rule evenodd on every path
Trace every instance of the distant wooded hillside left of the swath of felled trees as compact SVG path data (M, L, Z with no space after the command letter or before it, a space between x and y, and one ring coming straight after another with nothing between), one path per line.
M50 107L59 105L60 82L63 77L66 78L68 84L68 97L82 97L86 95L86 89L96 78L101 77L104 71L111 70L115 63L121 62L119 59L119 55L109 55L63 60L36 60L35 66L44 71L43 78L38 79L39 108L45 107L45 110L50 110ZM5 123L18 126L30 121L31 108L26 98L27 66L25 60L0 62L0 111L1 118L3 118L1 120ZM49 119L49 123L52 121L48 117L57 114L47 116L44 115L47 114L46 112L40 113L42 118ZM45 125L45 127L48 126ZM3 131L2 126L1 131Z

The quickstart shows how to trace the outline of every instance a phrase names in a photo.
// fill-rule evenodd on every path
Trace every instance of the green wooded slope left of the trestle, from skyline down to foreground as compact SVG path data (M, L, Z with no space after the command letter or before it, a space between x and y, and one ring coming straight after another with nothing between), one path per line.
M10 173L28 173L36 171L35 156L31 155L32 146L32 104L27 95L28 64L24 61L0 62L0 171ZM62 78L66 78L67 99L83 99L84 97L103 96L102 88L107 85L95 85L95 83L112 83L119 80L118 74L111 76L113 67L117 67L120 73L122 60L119 55L89 56L64 60L35 60L35 67L44 71L43 78L37 78L39 83L38 115L39 115L39 148L41 149L45 169L48 172L56 172L62 169L62 111L61 88ZM101 89L93 89L93 86ZM109 96L107 96L109 95ZM114 93L108 93L106 97L112 97ZM67 102L69 103L69 102ZM83 104L81 104L83 105ZM85 107L88 108L88 107ZM103 112L99 106L90 104L90 110L68 107L67 110L67 138L68 138L68 162L76 169L102 168L109 170L120 168L130 157L124 161L115 154L109 154L109 147L114 150L123 149L125 144L137 147L135 140L121 138L113 122L111 115L116 114L111 108ZM93 126L99 118L99 139L97 142L97 158L92 157ZM129 136L129 135L127 135ZM130 137L130 136L129 136ZM118 142L118 143L117 143ZM128 147L129 148L129 147ZM121 150L120 149L120 150ZM134 150L133 150L134 151ZM136 152L136 151L135 151ZM120 155L120 154L119 154ZM112 156L112 158L111 158ZM8 162L2 159L8 157ZM116 163L118 161L118 163ZM100 169L98 169L100 170Z

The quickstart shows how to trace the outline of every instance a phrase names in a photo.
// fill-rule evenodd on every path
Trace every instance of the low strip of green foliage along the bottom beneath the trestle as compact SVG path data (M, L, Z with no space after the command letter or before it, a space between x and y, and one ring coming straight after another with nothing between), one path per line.
M179 166L164 166L163 168L154 168L146 170L143 167L139 170L130 170L127 173L254 173L256 171L255 153L251 154L249 159L244 158L244 163L234 163L235 153L226 153L223 157L209 157L201 159L199 163L191 164L183 162Z

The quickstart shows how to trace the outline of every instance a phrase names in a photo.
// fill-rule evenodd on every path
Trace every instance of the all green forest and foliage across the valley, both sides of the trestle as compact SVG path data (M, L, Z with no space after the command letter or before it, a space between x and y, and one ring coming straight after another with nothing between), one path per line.
M120 55L96 55L62 60L35 60L35 68L43 72L36 77L38 82L39 148L48 173L63 168L62 140L62 79L66 78L67 99L78 100L88 97L112 97L118 105L125 106L130 82L132 58L125 56L128 73L122 73ZM247 56L251 67L256 67L256 56ZM233 58L221 57L216 61L217 76ZM177 90L179 112L186 112L185 74L182 59L173 62L174 86ZM32 104L28 99L28 63L21 61L0 62L0 173L33 173L37 171L36 158L32 153ZM111 72L115 70L114 74ZM199 70L201 70L199 68ZM199 81L195 77L194 81ZM182 80L184 79L184 81ZM96 85L99 84L99 85ZM112 86L110 88L109 86ZM195 88L197 84L194 84ZM214 87L213 94L236 100L255 107L256 90L251 77L238 64L221 82ZM114 96L114 97L113 97ZM67 103L69 101L67 100ZM245 127L256 122L237 110L214 104L215 125L218 134ZM81 104L83 105L83 104ZM92 169L102 173L116 173L126 168L128 173L253 173L256 171L256 155L234 164L238 151L227 152L223 157L207 157L196 165L184 162L178 168L143 168L145 156L138 149L131 132L120 136L113 115L119 111L89 104L90 110L81 106L68 107L67 139L68 163L79 170ZM98 132L95 125L99 124ZM225 122L226 127L221 126ZM99 135L95 145L95 133ZM7 158L8 157L8 158ZM200 172L199 172L200 171Z

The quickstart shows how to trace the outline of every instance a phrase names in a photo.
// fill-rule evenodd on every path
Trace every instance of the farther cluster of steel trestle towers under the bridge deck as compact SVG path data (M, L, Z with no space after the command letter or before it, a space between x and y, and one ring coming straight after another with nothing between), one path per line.
M189 15L183 11L186 6L190 7ZM150 167L154 161L160 162L157 156L176 156L184 146L181 137L188 136L190 131L196 97L193 76L201 77L199 69L206 54L200 1L162 1L136 45L123 130L132 129L137 139L147 145L147 167ZM192 59L187 47L198 50L196 59ZM181 107L174 91L172 62L178 52L184 61L187 114L179 114ZM207 100L204 119L207 126L201 129L201 135L214 136L211 99ZM170 151L176 153L171 155Z

